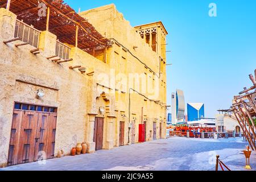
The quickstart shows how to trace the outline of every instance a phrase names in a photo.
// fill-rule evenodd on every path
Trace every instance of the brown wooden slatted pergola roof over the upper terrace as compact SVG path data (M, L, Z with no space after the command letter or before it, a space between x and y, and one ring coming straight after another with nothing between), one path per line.
M17 19L37 30L47 30L55 34L60 42L86 52L109 46L109 40L63 0L2 0L0 7L6 7L17 15ZM39 15L39 11L46 16Z

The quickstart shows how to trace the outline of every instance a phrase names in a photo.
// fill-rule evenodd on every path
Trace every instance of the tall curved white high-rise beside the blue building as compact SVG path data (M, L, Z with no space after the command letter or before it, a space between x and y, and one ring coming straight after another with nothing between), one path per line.
M182 90L172 93L172 125L184 122L185 100Z

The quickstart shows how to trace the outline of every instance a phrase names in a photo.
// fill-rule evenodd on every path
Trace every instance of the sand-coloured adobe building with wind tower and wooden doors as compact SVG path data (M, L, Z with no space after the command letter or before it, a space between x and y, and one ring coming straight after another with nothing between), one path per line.
M0 7L1 167L70 155L77 143L91 153L166 138L161 22L134 28L114 5Z

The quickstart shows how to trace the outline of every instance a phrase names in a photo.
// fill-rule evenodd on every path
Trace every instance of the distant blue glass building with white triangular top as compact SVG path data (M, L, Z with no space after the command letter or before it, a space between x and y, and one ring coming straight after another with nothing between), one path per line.
M204 104L203 103L188 103L188 121L196 121L204 118Z

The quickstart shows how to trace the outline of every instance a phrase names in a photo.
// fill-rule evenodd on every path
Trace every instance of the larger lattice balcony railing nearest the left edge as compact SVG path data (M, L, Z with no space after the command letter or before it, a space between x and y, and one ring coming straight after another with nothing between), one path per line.
M20 38L22 42L28 43L31 46L38 48L40 31L16 19L14 38Z

